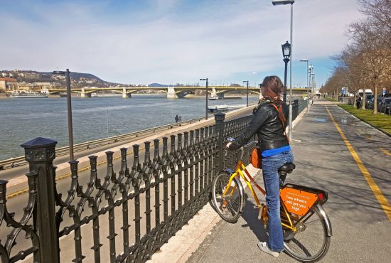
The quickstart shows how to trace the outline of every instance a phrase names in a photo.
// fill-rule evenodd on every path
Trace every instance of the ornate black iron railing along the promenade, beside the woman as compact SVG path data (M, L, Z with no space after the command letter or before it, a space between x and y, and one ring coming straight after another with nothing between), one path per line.
M104 175L97 156L90 156L87 183L77 172L78 162L70 161L65 193L55 184L57 142L37 138L23 144L31 172L26 174L28 203L20 220L7 210L7 181L0 181L1 262L26 257L53 263L150 259L208 202L213 176L232 165L235 154L223 153L225 138L238 136L251 117L224 118L215 114L215 125L155 139L152 145L146 141L142 151L134 145L132 160L122 148L117 169L114 153L107 151ZM28 245L16 247L22 232Z

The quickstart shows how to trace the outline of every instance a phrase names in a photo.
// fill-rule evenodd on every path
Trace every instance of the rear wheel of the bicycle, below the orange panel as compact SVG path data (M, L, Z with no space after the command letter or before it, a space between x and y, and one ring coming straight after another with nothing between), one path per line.
M326 220L315 206L296 224L296 232L283 227L286 254L300 262L317 262L322 259L331 241Z

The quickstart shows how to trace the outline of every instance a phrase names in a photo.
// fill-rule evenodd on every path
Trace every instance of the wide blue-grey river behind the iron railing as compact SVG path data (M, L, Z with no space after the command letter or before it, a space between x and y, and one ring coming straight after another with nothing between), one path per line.
M249 104L257 102L250 97ZM243 99L209 101L210 104L242 106ZM234 107L230 107L235 109ZM167 99L166 95L72 98L73 139L75 144L108 136L205 116L204 98ZM66 97L0 100L0 160L23 156L21 144L36 137L68 145Z

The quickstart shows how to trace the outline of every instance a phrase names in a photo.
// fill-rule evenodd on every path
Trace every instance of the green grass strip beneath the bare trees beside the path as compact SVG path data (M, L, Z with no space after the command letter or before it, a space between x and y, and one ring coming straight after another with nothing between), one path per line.
M369 109L355 109L352 105L348 104L341 104L339 107L345 109L355 117L358 117L358 119L367 122L373 127L382 129L382 131L387 132L389 135L391 134L391 116L381 113L373 114Z

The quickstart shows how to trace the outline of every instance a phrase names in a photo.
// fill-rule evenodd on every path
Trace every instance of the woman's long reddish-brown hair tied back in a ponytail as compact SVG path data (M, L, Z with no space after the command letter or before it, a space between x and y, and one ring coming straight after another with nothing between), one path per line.
M263 87L262 95L264 95L264 100L271 100L273 104L278 107L279 119L286 123L284 112L282 112L282 100L281 94L284 91L284 85L282 81L277 76L267 76L264 78L261 88Z

